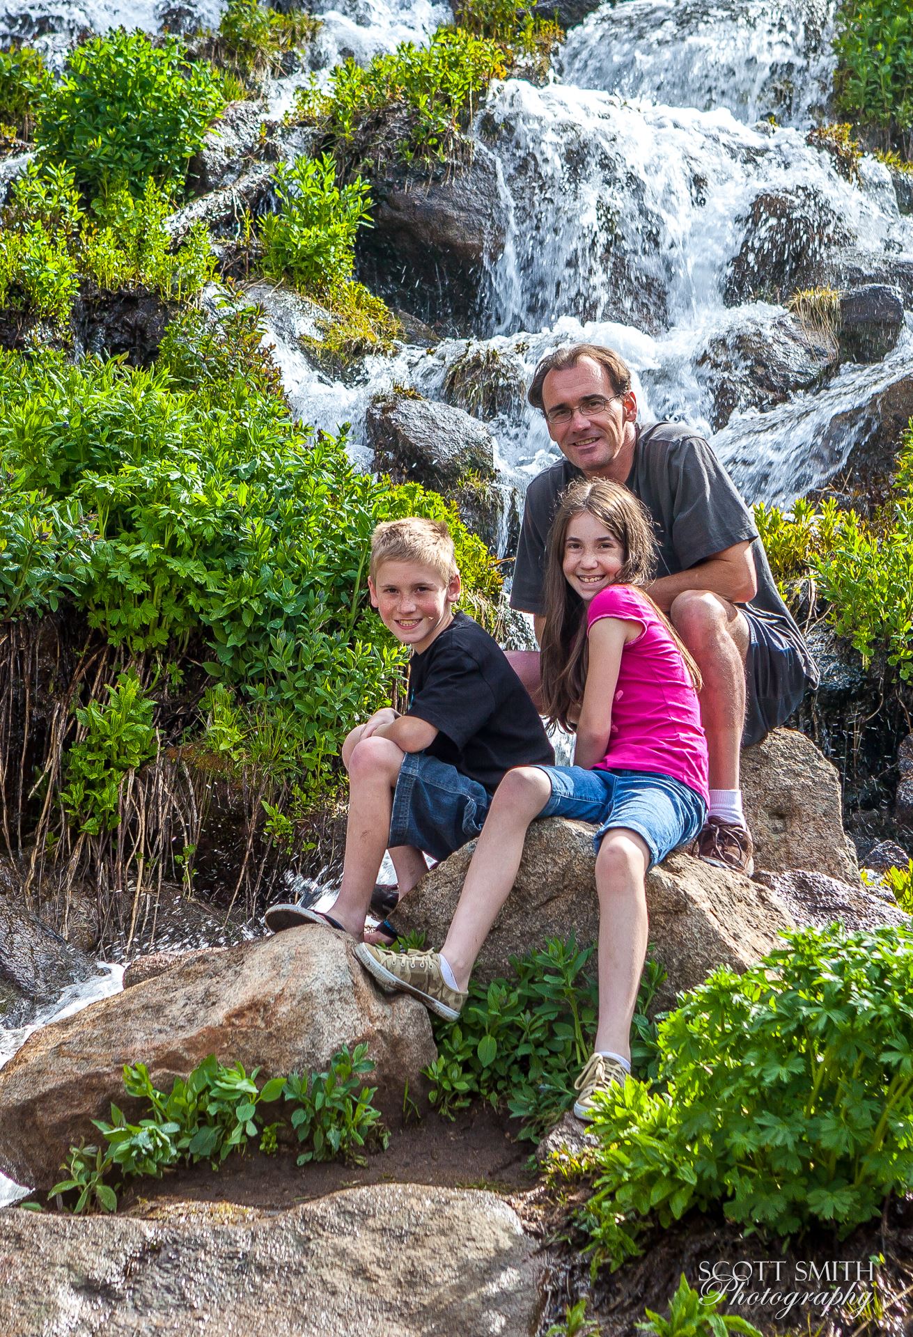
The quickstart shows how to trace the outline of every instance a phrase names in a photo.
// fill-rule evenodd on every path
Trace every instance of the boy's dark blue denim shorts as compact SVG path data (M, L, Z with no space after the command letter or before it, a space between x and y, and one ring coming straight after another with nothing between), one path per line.
M393 792L389 849L413 845L446 858L481 833L491 797L484 785L426 753L406 753Z

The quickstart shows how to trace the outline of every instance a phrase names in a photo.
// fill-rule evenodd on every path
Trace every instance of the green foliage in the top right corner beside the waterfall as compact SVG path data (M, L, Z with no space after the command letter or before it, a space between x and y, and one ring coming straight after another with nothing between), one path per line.
M845 0L837 15L837 108L909 156L913 12L906 0Z

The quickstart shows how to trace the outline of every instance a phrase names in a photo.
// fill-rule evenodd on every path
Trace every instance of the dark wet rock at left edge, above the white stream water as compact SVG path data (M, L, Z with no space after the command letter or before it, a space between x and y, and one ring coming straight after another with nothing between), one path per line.
M0 1024L25 1025L96 967L33 915L0 896Z

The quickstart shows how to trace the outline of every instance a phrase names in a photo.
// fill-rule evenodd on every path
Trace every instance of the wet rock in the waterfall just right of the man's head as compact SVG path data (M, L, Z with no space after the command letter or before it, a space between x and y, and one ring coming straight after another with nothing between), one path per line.
M739 324L712 336L696 357L698 377L707 386L711 424L723 428L733 413L782 404L810 390L837 365L837 345L793 316L774 320L769 309L749 312Z

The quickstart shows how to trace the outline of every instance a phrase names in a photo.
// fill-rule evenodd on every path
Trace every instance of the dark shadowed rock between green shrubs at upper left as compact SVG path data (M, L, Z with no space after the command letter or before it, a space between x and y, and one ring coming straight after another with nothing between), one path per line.
M178 310L178 302L164 301L148 287L108 293L86 282L74 303L74 338L84 353L107 357L123 353L131 366L151 366Z

